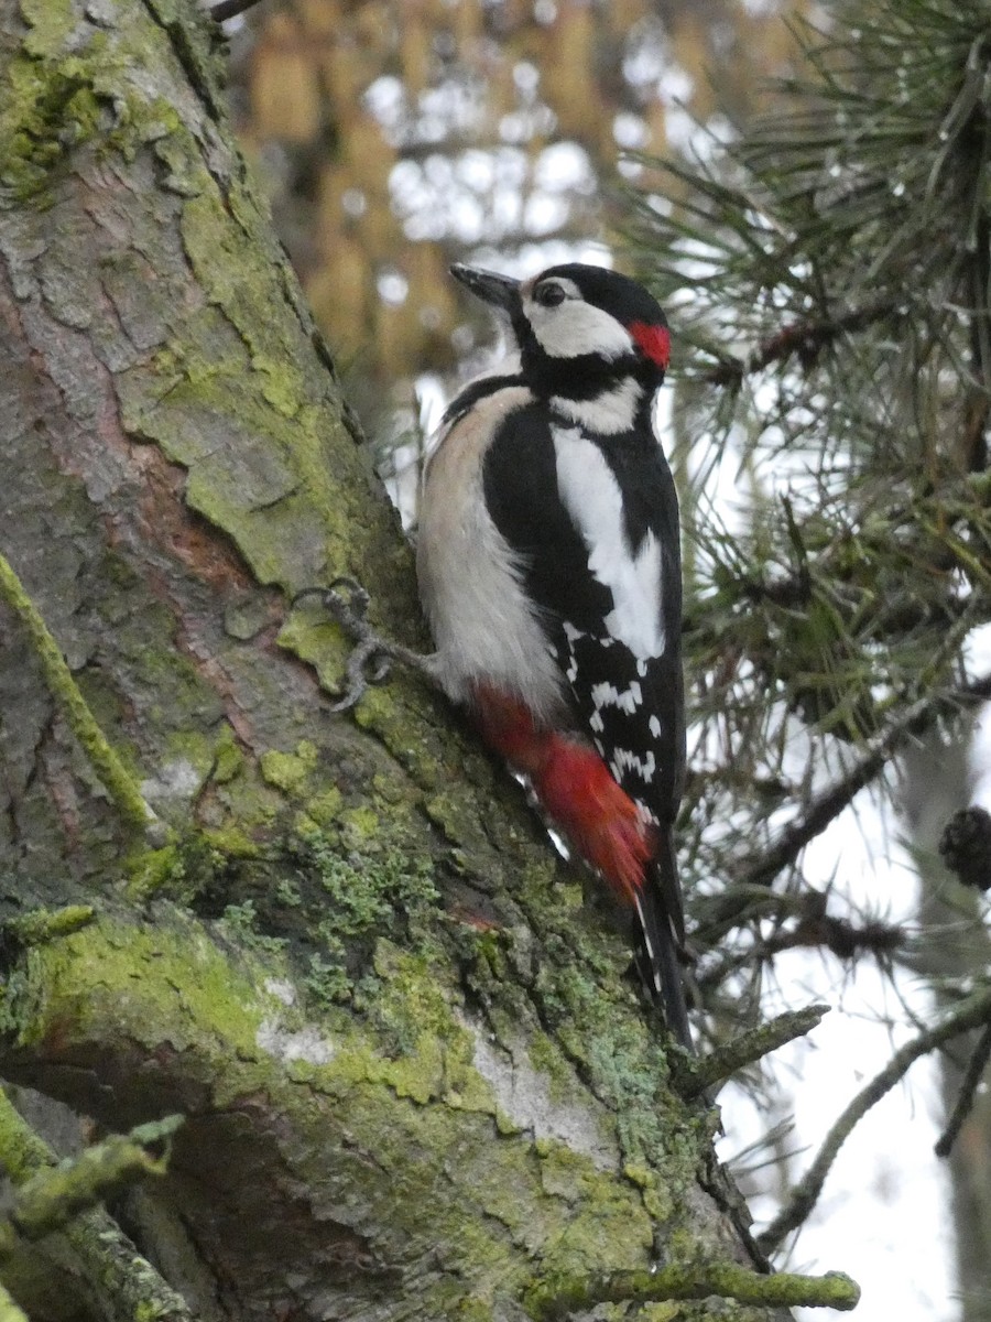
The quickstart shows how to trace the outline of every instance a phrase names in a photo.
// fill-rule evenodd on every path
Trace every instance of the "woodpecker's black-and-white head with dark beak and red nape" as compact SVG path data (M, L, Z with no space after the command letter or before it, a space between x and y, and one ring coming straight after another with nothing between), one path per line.
M665 379L667 319L626 275L579 262L529 280L472 266L452 266L451 274L509 324L525 375L551 394L579 377L636 375L651 387Z

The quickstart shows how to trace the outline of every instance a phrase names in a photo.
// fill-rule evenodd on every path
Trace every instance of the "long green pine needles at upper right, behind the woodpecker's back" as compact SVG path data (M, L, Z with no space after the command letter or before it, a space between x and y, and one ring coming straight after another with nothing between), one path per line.
M799 28L786 115L691 165L651 161L658 186L629 194L629 246L682 345L712 940L740 916L727 879L751 888L735 906L794 923L805 846L864 787L897 791L921 739L966 743L991 693L991 11L831 17ZM895 948L913 953L905 933Z

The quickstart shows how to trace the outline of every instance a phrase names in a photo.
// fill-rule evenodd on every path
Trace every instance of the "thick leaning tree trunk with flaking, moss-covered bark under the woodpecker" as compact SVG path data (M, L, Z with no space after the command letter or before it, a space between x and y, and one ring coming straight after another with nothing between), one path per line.
M85 1227L4 1281L34 1322L181 1317L165 1281L205 1318L514 1318L748 1263L625 944L518 788L406 677L329 710L349 642L293 594L354 575L423 642L411 558L209 21L1 11L0 1072L111 1130L186 1116L124 1207L148 1261L104 1253L144 1313Z

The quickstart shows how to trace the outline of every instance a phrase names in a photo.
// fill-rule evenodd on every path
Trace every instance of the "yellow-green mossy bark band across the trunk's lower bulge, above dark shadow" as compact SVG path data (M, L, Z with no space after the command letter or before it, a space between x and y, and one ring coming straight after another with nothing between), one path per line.
M177 1079L209 1088L206 1114L237 1113L248 1100L271 1108L296 1138L270 1161L291 1165L309 1134L353 1224L367 1224L373 1237L387 1224L407 1260L429 1260L444 1245L449 1274L427 1286L423 1315L440 1315L437 1298L451 1290L485 1303L513 1293L535 1261L555 1277L580 1265L646 1269L651 1224L640 1191L563 1144L499 1137L443 968L395 949L378 958L390 974L385 1035L385 1019L308 1023L288 970L276 982L271 960L231 961L189 919L160 915L151 928L103 917L26 952L0 1027L8 1058L28 1052L54 1066L63 1052L153 1059L168 1043ZM186 1126L193 1142L196 1126L196 1118ZM362 1136L373 1167L355 1165L341 1130ZM445 1174L452 1151L456 1181Z

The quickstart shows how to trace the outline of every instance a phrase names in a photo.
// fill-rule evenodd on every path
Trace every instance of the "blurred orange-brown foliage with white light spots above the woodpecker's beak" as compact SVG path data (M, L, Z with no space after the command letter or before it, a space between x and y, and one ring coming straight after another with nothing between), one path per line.
M743 122L805 0L268 0L243 148L367 428L472 346L452 260L610 246L618 157ZM628 167L643 173L645 167ZM534 254L542 255L534 255Z

